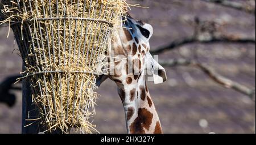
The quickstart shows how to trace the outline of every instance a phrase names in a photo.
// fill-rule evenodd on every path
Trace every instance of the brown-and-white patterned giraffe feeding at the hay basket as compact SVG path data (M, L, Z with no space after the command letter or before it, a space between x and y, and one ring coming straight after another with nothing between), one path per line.
M167 80L164 68L149 53L148 41L153 28L130 15L122 26L109 46L109 59L114 62L110 63L114 64L114 71L109 75L101 75L96 83L100 86L104 80L110 78L117 84L118 95L125 109L127 133L163 133L145 76L149 71L152 72L155 83Z

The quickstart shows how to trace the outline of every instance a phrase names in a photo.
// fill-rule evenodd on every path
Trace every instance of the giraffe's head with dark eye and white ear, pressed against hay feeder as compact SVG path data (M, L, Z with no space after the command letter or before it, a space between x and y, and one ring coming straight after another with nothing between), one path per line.
M152 34L150 24L128 15L122 28L118 29L118 35L114 35L109 44L110 74L100 76L97 85L110 78L119 86L125 86L137 83L142 75L150 75L148 80L154 80L155 84L166 81L166 71L149 52Z

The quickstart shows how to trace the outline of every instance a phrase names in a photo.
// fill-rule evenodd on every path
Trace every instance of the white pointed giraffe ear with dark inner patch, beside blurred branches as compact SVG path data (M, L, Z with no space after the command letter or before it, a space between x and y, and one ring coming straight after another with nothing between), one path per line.
M166 70L159 65L158 62L151 56L150 53L146 54L146 69L150 71L150 74L153 76L154 83L160 84L167 80Z

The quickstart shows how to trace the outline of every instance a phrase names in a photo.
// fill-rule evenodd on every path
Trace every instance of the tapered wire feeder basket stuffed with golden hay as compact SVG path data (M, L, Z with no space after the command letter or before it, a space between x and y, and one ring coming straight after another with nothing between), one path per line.
M125 6L123 0L0 1L0 18L13 29L45 131L96 131L90 121L95 80Z

